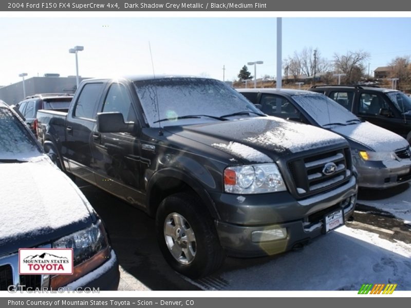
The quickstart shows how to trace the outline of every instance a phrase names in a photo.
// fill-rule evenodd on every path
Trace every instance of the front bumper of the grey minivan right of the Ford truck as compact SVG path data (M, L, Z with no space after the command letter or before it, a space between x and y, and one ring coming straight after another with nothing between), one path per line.
M354 159L358 170L358 186L389 188L411 181L411 160L364 161Z

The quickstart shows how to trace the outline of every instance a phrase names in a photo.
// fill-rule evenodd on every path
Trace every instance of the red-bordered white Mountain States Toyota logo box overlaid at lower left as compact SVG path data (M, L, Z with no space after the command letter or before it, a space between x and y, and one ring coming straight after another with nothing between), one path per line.
M71 275L73 249L20 248L18 249L20 275Z

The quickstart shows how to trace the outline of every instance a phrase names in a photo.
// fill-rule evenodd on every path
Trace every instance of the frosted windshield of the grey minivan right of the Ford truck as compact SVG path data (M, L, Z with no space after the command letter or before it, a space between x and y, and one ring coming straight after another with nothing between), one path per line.
M323 94L297 94L292 98L322 127L360 122L353 113Z

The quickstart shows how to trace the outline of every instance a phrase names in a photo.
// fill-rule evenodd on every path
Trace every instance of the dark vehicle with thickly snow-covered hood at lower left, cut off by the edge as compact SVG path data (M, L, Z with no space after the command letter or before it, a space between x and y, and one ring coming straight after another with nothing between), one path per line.
M118 260L103 222L2 101L0 174L0 291L117 290ZM20 248L72 248L73 274L19 275Z

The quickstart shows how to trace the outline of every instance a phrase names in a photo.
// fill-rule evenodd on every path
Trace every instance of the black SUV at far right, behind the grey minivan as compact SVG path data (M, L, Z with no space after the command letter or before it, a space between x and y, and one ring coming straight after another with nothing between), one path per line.
M377 86L314 86L362 120L393 131L411 144L411 98L403 92Z

